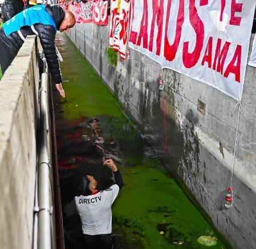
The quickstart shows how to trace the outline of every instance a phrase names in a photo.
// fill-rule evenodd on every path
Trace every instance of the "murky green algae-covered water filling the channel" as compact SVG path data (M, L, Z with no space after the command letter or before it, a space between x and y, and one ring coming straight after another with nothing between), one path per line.
M127 119L115 98L64 34L56 44L66 99L55 92L56 133L62 204L76 194L80 177L94 174L101 189L111 172L101 164L112 157L124 187L113 207L115 248L208 248L197 242L216 237L210 248L230 248L162 168L151 146ZM105 186L104 186L105 184ZM78 215L63 214L66 248L84 248Z

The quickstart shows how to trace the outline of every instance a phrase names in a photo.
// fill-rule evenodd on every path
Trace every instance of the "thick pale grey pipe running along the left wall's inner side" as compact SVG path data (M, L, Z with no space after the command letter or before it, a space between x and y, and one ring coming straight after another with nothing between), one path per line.
M51 248L50 219L50 158L47 141L47 93L46 93L46 59L43 58L43 72L39 89L39 164L38 164L38 248Z

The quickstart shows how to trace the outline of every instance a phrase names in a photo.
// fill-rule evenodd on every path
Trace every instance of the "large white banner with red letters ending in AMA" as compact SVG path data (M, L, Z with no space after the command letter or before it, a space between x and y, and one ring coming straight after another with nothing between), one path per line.
M135 0L129 47L241 100L255 0Z

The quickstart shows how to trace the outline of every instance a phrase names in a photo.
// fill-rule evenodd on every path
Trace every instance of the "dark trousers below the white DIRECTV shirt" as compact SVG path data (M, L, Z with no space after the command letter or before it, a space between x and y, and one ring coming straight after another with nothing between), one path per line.
M112 234L87 235L84 234L86 249L112 249Z

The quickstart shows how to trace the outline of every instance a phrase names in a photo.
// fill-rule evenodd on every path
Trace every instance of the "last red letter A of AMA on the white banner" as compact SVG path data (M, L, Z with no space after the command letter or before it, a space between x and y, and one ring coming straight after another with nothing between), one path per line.
M229 66L227 66L226 71L224 73L224 77L228 77L230 73L235 75L235 81L240 83L240 69L241 69L241 56L242 56L242 46L237 45L235 49L235 53ZM235 62L237 62L235 66Z

